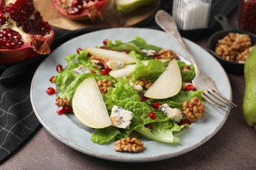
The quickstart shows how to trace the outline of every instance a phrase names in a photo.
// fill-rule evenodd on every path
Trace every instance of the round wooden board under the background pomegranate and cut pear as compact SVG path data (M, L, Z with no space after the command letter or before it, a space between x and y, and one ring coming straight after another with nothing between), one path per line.
M152 19L156 10L160 7L160 1L153 3L146 7L141 7L140 9L131 12L131 14L117 14L114 9L114 0L110 3L108 8L102 12L103 20L96 19L95 22L90 20L70 20L62 16L56 9L54 9L51 0L34 0L35 7L41 15L43 20L49 22L49 24L58 29L64 30L75 30L82 27L129 27L137 25L146 20ZM120 21L120 25L117 25L117 21Z

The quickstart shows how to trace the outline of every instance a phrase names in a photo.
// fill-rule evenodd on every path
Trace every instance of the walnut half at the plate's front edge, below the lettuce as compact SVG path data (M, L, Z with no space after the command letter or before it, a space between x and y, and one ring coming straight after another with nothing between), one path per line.
M143 150L144 143L142 143L139 139L136 137L127 137L125 139L121 139L116 141L114 144L114 150L117 152L139 152Z

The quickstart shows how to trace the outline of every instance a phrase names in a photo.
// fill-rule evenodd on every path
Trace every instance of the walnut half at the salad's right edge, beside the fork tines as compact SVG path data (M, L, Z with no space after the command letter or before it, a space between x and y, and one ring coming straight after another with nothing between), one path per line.
M190 101L184 101L183 114L186 120L194 123L198 119L203 118L205 107L198 97L193 97Z

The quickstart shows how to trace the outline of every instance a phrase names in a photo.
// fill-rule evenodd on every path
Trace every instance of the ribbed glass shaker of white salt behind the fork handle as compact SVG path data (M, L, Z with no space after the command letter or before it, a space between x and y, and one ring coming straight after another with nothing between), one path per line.
M211 0L173 0L172 16L179 29L208 27Z

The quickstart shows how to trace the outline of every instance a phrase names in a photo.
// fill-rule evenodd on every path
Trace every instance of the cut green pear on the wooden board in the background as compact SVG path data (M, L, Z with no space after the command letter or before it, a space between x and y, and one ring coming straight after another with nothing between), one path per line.
M114 7L117 12L129 13L156 1L158 0L114 0Z

